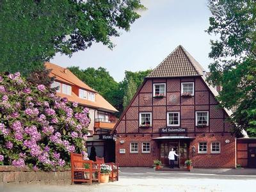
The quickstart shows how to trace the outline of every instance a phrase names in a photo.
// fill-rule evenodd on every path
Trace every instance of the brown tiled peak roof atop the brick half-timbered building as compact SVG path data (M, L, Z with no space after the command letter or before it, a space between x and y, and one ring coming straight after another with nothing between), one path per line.
M179 45L147 77L202 76L203 71L204 68Z

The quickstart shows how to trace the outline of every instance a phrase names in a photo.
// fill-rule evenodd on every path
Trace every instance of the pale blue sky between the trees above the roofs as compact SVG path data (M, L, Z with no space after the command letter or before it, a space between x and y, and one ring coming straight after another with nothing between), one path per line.
M125 70L136 72L155 68L182 45L206 70L212 60L210 40L205 29L209 26L211 12L207 0L143 0L147 10L140 11L130 31L122 31L111 38L113 50L101 43L85 51L75 52L71 58L56 54L52 63L61 67L104 67L115 81L124 79Z

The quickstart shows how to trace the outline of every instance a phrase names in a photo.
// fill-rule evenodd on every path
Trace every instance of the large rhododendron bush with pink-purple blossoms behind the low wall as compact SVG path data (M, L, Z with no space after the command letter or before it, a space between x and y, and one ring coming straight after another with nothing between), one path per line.
M54 93L0 74L0 164L54 170L68 166L70 152L86 154L88 109Z

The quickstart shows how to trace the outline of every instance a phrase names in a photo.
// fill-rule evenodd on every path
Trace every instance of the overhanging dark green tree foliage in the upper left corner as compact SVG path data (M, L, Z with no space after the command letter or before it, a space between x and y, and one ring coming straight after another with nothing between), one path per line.
M29 74L56 52L73 52L128 31L140 17L140 0L0 1L0 70Z

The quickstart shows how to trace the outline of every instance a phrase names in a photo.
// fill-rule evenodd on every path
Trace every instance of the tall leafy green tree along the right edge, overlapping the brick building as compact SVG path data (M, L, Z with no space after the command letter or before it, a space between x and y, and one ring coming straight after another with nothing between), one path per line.
M211 41L209 82L223 89L218 99L228 109L236 109L232 120L236 132L245 129L256 136L256 2L211 0L209 34L220 36Z

